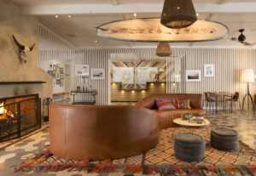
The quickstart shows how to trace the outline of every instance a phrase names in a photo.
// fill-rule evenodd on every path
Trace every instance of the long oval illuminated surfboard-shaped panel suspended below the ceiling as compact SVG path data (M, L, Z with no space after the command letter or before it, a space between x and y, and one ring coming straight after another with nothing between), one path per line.
M130 42L147 43L191 43L223 39L230 31L224 24L197 20L183 29L170 29L160 24L160 18L119 20L96 27L100 37Z

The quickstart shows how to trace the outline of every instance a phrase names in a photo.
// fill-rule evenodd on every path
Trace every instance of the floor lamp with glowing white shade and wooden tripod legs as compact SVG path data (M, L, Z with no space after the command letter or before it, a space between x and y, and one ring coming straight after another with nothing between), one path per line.
M253 105L253 97L250 94L250 90L249 90L249 82L254 82L254 72L253 69L244 69L241 71L241 82L247 82L247 93L244 95L243 99L242 99L242 105L241 105L241 110L243 111L243 107L244 107L244 102L245 99L248 99L248 110L249 110L249 103L250 103L250 99ZM254 111L254 105L253 105L253 111Z

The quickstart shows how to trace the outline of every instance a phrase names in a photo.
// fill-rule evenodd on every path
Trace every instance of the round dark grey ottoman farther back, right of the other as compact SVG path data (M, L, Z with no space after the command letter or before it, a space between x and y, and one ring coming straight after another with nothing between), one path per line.
M214 128L211 132L211 144L218 150L238 150L238 133L230 128Z

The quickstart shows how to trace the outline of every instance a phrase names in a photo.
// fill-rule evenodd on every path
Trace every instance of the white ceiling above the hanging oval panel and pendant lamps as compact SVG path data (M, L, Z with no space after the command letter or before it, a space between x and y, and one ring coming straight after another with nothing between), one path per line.
M164 0L12 0L20 5L20 13L38 16L39 22L77 48L152 47L156 43L118 42L96 37L96 26L113 20L160 17ZM215 20L230 28L230 37L237 37L240 28L248 43L256 42L255 0L194 0L199 18ZM55 14L59 18L55 18ZM67 14L72 14L68 18ZM73 34L75 37L68 37ZM229 38L230 38L229 37ZM98 43L95 43L95 41ZM189 47L244 47L236 41L207 43L172 43ZM256 45L254 45L254 48Z

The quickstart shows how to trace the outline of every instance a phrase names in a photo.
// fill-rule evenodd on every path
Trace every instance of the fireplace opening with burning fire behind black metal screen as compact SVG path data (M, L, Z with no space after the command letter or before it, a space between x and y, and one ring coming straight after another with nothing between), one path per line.
M0 98L0 142L41 128L40 114L38 94Z

